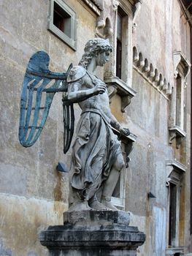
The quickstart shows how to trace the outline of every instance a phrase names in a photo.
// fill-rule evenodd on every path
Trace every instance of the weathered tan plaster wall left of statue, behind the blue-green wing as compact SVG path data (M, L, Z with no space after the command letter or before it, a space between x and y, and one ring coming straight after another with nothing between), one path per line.
M37 50L50 55L50 69L64 72L78 63L94 34L96 16L80 1L66 1L77 12L77 51L47 31L49 1L0 2L0 255L47 255L39 230L62 223L68 208L68 176L55 170L63 154L61 94L55 95L37 143L23 148L18 141L20 91L28 59ZM78 114L77 106L74 107Z

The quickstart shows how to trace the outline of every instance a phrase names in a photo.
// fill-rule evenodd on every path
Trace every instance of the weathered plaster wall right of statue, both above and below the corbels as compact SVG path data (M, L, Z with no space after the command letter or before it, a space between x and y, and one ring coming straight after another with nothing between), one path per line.
M137 17L137 29L133 45L142 52L143 58L152 63L174 85L173 53L181 50L190 60L190 28L181 16L178 1L142 2ZM190 133L191 89L190 77L185 89L186 140L180 149L169 145L169 99L163 97L141 75L133 70L132 88L137 95L120 118L131 132L138 136L131 153L127 173L126 210L133 214L132 225L144 230L147 241L138 255L165 255L168 243L166 234L168 189L166 187L166 160L177 159L188 167L180 197L180 246L190 244ZM177 154L174 152L177 151ZM148 199L147 192L156 198ZM137 195L137 197L133 197ZM190 252L190 251L188 251Z

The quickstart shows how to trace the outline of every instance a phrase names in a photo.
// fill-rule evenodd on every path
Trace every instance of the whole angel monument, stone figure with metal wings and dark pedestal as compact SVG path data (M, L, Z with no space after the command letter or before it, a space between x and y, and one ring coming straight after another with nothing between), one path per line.
M108 61L109 40L95 38L85 45L77 67L66 73L49 70L45 51L31 56L20 98L19 140L30 147L42 132L56 92L63 94L64 153L74 133L74 102L82 113L72 146L69 172L69 210L64 225L50 226L39 239L50 255L137 255L145 234L129 227L130 215L111 203L112 192L124 167L120 141L112 127L129 135L112 116L106 84L94 75Z

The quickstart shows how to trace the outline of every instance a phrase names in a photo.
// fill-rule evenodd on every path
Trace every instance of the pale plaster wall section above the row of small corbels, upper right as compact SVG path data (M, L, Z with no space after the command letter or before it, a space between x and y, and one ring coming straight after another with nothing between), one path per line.
M146 0L137 16L133 45L165 78L173 82L173 52L190 56L190 27L182 15L179 1Z

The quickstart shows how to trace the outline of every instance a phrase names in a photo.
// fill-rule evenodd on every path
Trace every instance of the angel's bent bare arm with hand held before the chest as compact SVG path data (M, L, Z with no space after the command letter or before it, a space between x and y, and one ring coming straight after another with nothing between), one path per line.
M98 85L93 88L82 89L82 79L69 83L68 96L70 102L82 102L85 99L93 97L97 94L103 94L105 91L104 85Z

